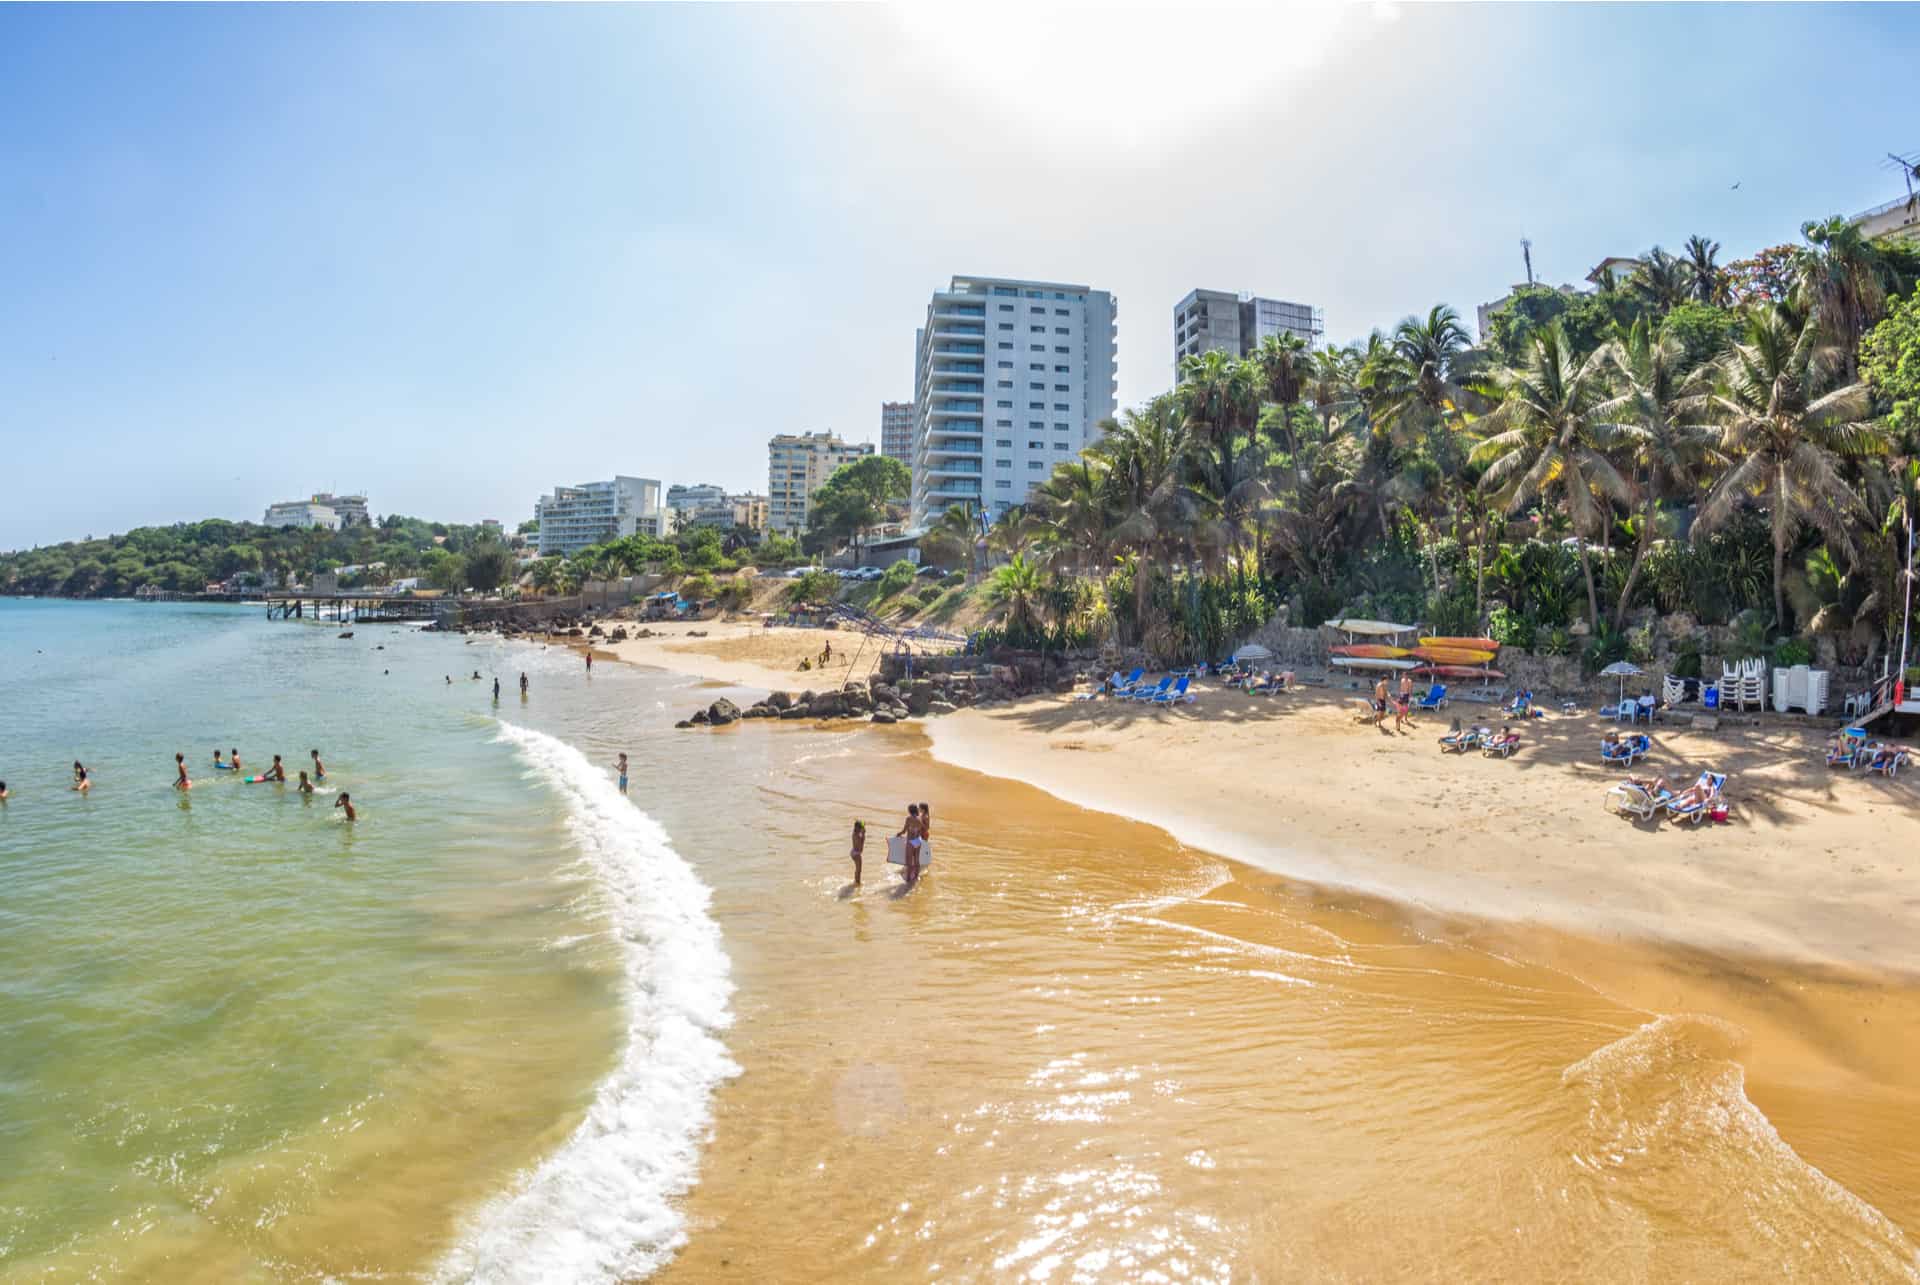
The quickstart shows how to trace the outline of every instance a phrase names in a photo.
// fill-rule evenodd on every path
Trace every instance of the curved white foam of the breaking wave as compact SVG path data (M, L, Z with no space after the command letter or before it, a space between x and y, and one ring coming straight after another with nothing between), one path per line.
M708 887L666 832L588 759L551 736L503 724L564 801L607 897L626 968L626 1049L572 1137L468 1222L442 1281L622 1281L685 1243L674 1197L693 1187L714 1087L739 1066L730 964Z

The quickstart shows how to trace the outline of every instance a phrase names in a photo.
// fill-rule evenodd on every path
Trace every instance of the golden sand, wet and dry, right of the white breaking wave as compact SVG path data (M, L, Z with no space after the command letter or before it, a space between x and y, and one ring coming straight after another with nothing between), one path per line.
M622 655L705 674L684 703L808 686L781 657L812 640L741 634ZM676 734L689 766L764 782L741 820L785 859L705 866L743 1074L664 1275L1920 1279L1920 989L1887 830L1910 814L1880 782L1820 807L1736 784L1734 826L1642 830L1599 811L1588 720L1534 724L1505 763L1442 759L1432 720L1344 718L1204 695ZM1711 745L1736 782L1764 768L1728 747L1774 753ZM993 774L943 763L966 753ZM1304 803L1380 778L1369 807ZM906 799L935 801L937 861L902 895L872 853ZM1837 874L1782 851L1828 814L1868 853ZM1213 855L1242 849L1258 864ZM1755 874L1774 866L1784 887Z

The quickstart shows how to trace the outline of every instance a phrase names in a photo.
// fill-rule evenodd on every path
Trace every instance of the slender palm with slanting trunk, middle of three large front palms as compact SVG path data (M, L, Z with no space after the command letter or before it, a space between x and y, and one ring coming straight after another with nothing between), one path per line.
M1613 609L1613 626L1620 628L1626 605L1634 597L1634 582L1640 580L1640 569L1653 549L1659 501L1697 494L1707 465L1724 461L1713 430L1699 419L1699 394L1705 392L1709 373L1682 375L1686 348L1676 338L1655 338L1651 323L1642 317L1624 340L1609 344L1603 352L1619 373L1622 390L1597 405L1596 415L1615 424L1620 446L1632 457L1642 501L1634 561L1626 584L1620 586L1620 601Z

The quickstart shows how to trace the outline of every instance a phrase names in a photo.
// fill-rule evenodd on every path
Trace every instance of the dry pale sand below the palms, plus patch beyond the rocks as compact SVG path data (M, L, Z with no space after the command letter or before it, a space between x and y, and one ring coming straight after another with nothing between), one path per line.
M687 628L705 638L685 638ZM816 655L828 638L833 668L789 672L781 663ZM874 647L854 663L860 642L707 622L603 647L707 682L799 690L864 678ZM1713 768L1732 778L1728 824L1682 826L1601 807L1626 770L1599 763L1597 739L1611 724L1590 715L1526 722L1513 759L1482 759L1440 753L1436 738L1452 716L1494 718L1490 707L1461 703L1407 734L1357 724L1352 711L1346 691L1246 697L1206 686L1177 709L1035 695L929 718L920 732L943 764L1020 780L1413 916L1920 978L1910 786L1824 768L1816 730L1659 724L1655 753L1632 772L1690 782Z

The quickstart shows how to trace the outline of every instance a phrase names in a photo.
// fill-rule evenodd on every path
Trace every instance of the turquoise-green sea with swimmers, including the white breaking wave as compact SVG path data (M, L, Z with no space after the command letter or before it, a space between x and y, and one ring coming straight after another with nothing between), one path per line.
M540 722L559 655L0 599L0 1273L540 1262L580 1204L568 1177L618 1160L570 1133L637 1145L601 1116L645 1068L685 1095L653 1143L691 1152L680 1135L728 1070L705 1033L726 960L666 836L561 739L503 730ZM474 668L499 670L499 707ZM290 778L319 749L323 791L351 791L359 820L334 793L215 772L215 747L248 770L280 753ZM674 933L708 978L662 1014L636 982L672 982ZM666 1016L685 1030L660 1070ZM574 1172L540 1168L557 1158ZM632 1225L603 1208L616 1249L670 1239L641 1224L685 1181L620 1193Z

